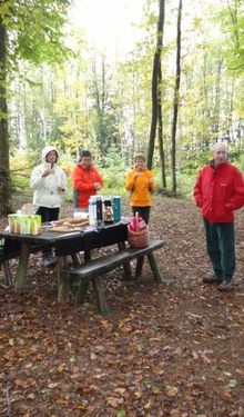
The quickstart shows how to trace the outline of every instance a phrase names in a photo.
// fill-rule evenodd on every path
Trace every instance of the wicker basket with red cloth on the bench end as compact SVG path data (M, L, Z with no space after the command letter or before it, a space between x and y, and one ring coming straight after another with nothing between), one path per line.
M144 248L149 246L149 226L135 214L128 225L128 242L133 248Z

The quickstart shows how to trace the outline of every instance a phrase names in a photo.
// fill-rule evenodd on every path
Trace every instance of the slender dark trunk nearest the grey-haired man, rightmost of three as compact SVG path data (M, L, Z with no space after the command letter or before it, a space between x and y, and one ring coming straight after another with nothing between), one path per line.
M182 20L182 0L179 0L177 12L177 50L176 50L176 77L174 86L174 103L173 103L173 121L172 121L172 139L171 139L171 179L172 191L176 192L176 128L179 112L179 97L181 85L181 20Z

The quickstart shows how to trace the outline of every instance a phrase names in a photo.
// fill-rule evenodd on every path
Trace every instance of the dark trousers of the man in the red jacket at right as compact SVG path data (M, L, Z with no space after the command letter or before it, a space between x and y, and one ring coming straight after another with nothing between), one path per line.
M206 249L214 275L223 281L231 281L235 271L235 230L234 222L211 224L203 219L206 236Z

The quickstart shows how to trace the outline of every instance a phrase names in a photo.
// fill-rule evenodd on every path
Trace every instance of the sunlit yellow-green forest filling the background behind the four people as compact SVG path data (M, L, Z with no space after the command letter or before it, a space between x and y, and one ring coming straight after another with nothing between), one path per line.
M115 60L90 48L71 7L0 4L1 212L47 143L62 152L68 172L79 150L90 149L108 188L121 191L139 151L159 187L186 195L215 141L243 168L241 0L145 1L141 39Z

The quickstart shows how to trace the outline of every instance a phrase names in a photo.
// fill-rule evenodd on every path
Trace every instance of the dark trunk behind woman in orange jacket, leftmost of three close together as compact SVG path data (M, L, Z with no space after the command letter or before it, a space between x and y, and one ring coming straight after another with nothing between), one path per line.
M162 46L163 46L164 4L165 4L165 0L160 0L160 3L159 3L160 13L159 13L157 31L156 31L156 50L154 53L153 73L152 73L152 119L151 119L151 130L150 130L148 161L146 161L149 169L152 168L155 136L156 136L157 105L159 105L159 68L160 68L161 52L162 52Z

